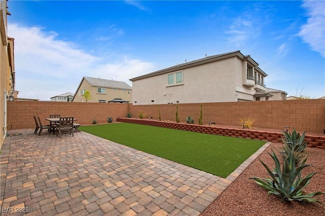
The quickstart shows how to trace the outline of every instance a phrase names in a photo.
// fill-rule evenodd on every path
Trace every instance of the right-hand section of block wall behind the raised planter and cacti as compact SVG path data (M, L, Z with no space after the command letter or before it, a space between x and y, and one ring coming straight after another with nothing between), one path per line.
M161 119L176 121L178 105L181 123L192 116L194 123L199 122L200 103L160 104ZM203 123L215 122L221 125L240 125L239 119L252 117L254 126L283 129L289 126L299 131L323 133L325 129L325 99L270 100L202 103ZM137 117L142 111L146 118L158 119L158 105L131 105L129 112Z

